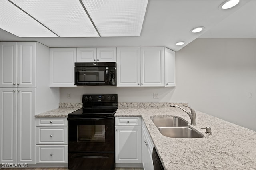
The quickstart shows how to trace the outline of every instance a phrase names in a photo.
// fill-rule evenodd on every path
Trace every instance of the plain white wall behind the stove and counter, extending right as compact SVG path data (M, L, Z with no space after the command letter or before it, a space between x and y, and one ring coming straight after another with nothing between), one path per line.
M60 88L60 102L81 102L82 94L89 93L117 93L120 102L188 102L198 111L256 130L256 39L194 40L176 53L176 87Z

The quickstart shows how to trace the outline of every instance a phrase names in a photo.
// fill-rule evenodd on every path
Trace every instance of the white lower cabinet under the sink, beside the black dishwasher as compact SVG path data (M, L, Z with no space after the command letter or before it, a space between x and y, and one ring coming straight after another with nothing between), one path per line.
M152 153L154 144L148 133L144 121L142 121L142 164L144 170L154 170Z

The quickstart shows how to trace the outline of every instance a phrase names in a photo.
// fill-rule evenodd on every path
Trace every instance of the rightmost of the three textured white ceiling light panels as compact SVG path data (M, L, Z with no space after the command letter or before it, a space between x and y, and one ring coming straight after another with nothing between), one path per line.
M140 36L148 0L82 2L101 36Z

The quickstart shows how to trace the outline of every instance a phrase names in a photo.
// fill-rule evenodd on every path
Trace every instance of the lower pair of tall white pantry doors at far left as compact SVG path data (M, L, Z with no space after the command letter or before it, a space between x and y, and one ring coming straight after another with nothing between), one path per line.
M35 88L0 88L1 163L35 161Z

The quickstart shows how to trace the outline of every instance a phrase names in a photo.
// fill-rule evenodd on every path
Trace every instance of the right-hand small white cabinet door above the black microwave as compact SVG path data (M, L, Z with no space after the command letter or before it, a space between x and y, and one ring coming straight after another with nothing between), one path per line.
M116 47L97 48L97 62L116 62Z

